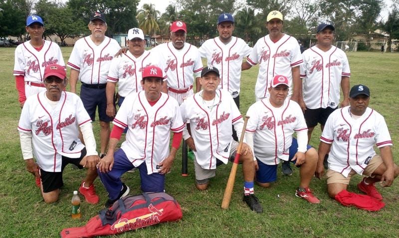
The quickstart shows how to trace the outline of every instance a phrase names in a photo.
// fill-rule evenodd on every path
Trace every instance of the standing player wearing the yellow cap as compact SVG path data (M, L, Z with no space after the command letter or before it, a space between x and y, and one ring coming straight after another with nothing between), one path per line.
M305 110L302 97L300 97L302 81L299 76L299 65L303 60L298 41L295 37L281 32L283 15L280 11L271 11L266 20L269 34L256 42L246 62L242 63L242 70L259 63L259 73L255 84L256 101L268 96L268 87L274 76L285 75L288 78L290 89L288 98L299 103L302 110ZM284 175L292 174L288 162L283 162L282 171Z

